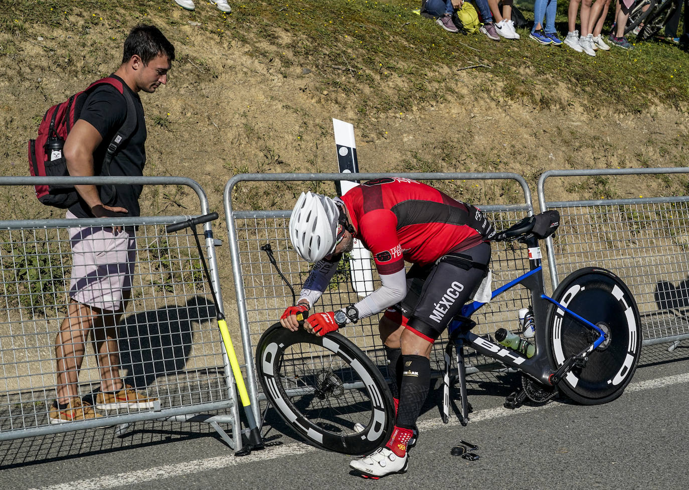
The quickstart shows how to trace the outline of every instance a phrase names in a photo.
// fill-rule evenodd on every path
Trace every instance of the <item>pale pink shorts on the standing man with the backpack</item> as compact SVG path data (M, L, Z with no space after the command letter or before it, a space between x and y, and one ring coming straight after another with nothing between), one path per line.
M70 211L68 218L76 219ZM70 297L94 308L119 311L123 293L132 289L136 239L112 228L70 228L72 279Z

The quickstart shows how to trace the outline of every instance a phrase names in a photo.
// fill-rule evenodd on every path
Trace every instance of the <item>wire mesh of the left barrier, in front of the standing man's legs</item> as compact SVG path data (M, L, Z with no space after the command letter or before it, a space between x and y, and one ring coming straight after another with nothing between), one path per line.
M56 339L70 306L69 228L46 221L45 228L1 230L0 264L3 433L50 423L58 378ZM104 312L96 326L112 319ZM94 355L95 331L84 342L63 331L71 339L70 351L85 348L78 389L90 403L107 375ZM167 235L165 226L138 226L132 298L116 331L108 353L114 363L119 360L115 375L152 399L152 408L145 409L151 418L169 408L192 407L191 412L196 404L229 400L215 307L191 231ZM71 357L74 365L78 355ZM128 406L96 414L113 424L118 415L135 411L141 410Z

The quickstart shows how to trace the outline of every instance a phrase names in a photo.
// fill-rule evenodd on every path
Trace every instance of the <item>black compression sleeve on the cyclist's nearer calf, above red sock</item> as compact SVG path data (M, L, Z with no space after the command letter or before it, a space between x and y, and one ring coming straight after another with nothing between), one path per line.
M397 426L414 428L431 383L431 362L422 355L402 355L402 386Z

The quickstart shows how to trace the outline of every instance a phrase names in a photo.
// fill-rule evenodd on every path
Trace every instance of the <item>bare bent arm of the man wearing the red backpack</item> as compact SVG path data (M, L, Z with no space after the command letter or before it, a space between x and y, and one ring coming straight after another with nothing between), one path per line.
M102 141L101 133L90 123L83 119L76 121L65 141L63 150L67 170L72 177L91 177L94 175L93 153ZM74 188L95 217L117 216L119 213L127 213L125 208L105 206L101 202L98 188L94 185L79 184Z

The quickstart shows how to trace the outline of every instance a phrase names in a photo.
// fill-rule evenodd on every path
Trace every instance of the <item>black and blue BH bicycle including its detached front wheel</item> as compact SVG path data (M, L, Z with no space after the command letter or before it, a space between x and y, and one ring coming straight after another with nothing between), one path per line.
M537 226L544 219L550 223L546 231ZM491 298L517 285L531 291L535 353L527 357L497 344L489 335L473 333L476 324L471 315L485 303L464 305L448 327L445 422L449 420L452 351L460 386L458 417L463 425L469 422L465 346L522 373L522 388L506 400L512 408L527 398L547 402L558 392L580 404L606 403L618 398L632 379L641 354L641 322L633 295L617 275L586 267L568 275L552 297L544 292L538 240L557 226L559 215L551 210L497 233L497 242L526 245L530 270L497 288ZM361 455L387 442L394 424L387 382L369 357L340 333L318 337L303 329L289 331L278 322L260 337L256 368L271 405L309 444Z

